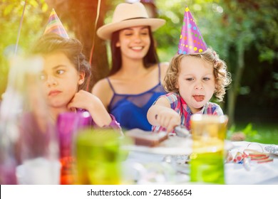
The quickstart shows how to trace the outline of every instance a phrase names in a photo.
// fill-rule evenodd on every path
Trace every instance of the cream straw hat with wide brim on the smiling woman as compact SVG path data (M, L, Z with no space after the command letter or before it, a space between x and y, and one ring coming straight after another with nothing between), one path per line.
M150 26L152 31L160 28L165 23L161 18L149 18L145 6L140 2L134 4L122 3L116 6L112 22L101 28L98 28L97 35L104 39L110 40L111 35L115 31L133 27L133 26Z

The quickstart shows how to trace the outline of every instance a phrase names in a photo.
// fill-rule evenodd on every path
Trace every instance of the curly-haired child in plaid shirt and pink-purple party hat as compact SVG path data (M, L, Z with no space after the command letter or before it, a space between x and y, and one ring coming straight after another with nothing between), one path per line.
M152 130L170 132L178 125L190 130L192 114L222 115L221 107L210 99L215 95L221 102L230 82L227 65L212 48L207 48L186 8L178 52L163 82L168 94L158 97L148 110Z

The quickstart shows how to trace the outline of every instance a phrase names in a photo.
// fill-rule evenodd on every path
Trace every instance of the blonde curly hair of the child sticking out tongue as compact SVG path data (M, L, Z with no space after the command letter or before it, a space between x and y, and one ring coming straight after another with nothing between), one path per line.
M180 61L186 56L200 58L213 65L213 73L215 75L215 97L217 97L218 102L222 102L226 93L225 88L230 85L232 79L230 72L227 71L226 63L223 60L220 60L219 55L217 55L217 53L211 48L207 48L207 50L205 50L203 53L175 55L170 62L170 66L163 81L164 89L167 92L179 91L176 85L180 72Z

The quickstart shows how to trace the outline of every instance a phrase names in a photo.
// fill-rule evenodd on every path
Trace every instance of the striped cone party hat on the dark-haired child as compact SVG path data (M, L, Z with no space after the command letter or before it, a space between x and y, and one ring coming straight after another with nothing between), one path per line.
M46 33L56 33L63 38L69 38L68 33L66 33L65 28L63 28L63 24L61 23L54 9L51 11L51 14L48 18L48 23L46 25L46 31L44 31L43 34Z

